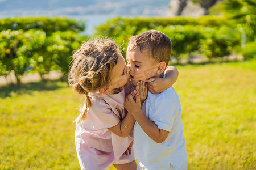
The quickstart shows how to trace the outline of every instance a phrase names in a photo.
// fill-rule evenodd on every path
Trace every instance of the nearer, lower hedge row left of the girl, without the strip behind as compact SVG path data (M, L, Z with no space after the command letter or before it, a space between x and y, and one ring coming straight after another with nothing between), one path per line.
M17 82L22 75L37 72L41 76L52 70L67 74L71 55L87 37L73 31L54 32L47 36L42 30L2 31L0 33L0 75L14 72Z

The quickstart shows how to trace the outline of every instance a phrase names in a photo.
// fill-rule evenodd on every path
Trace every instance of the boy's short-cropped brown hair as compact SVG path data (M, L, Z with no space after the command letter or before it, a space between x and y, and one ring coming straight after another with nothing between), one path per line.
M130 37L129 40L128 50L139 48L141 53L143 50L147 50L156 62L164 61L168 66L172 53L172 42L163 32L150 30Z

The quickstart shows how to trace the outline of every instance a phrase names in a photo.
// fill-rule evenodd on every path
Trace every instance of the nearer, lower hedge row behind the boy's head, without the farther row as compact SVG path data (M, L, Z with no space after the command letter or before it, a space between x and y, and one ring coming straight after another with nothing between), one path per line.
M127 28L129 29L129 28ZM224 57L240 46L241 33L229 27L204 27L201 25L169 25L155 27L165 33L172 41L172 56L176 59L196 57L197 54L207 58ZM134 30L134 29L132 29ZM142 28L136 34L147 31ZM120 35L112 37L118 45L127 49L129 38L133 31L119 31ZM123 52L126 57L126 52Z

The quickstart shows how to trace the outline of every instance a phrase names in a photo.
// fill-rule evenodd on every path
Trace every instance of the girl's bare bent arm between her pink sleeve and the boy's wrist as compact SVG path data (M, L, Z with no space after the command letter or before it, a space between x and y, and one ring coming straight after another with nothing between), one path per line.
M133 130L134 123L134 117L130 113L127 113L122 121L119 121L117 125L108 129L114 134L125 138L131 133L131 130Z

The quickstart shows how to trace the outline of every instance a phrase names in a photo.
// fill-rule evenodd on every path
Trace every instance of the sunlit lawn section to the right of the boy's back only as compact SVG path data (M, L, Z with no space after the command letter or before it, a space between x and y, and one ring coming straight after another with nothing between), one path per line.
M188 169L255 168L256 67L247 65L178 67Z

